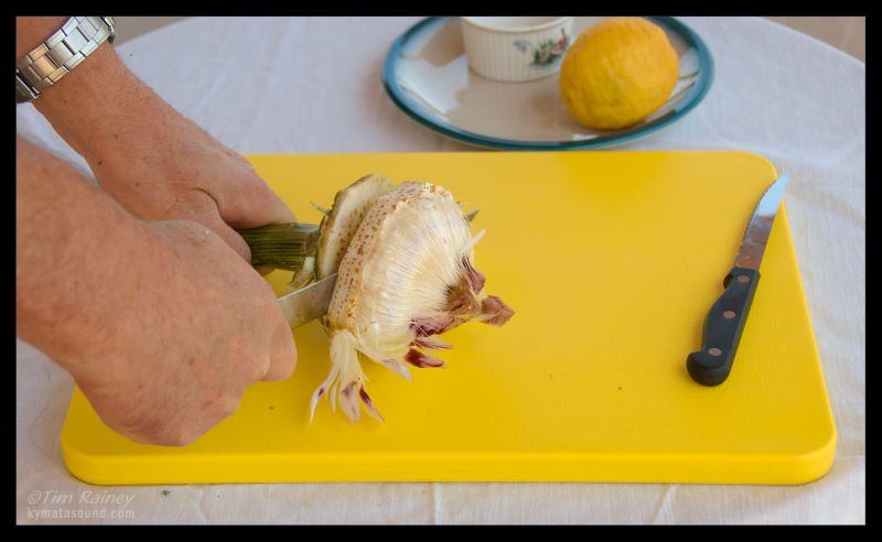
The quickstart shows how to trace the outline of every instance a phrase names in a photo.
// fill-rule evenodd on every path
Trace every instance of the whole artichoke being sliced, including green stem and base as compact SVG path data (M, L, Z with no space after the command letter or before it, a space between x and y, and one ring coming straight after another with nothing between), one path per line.
M314 204L313 204L314 205ZM395 185L366 175L334 197L321 224L272 224L240 230L255 265L293 271L291 288L338 272L321 324L331 338L331 371L310 402L338 402L352 422L362 405L383 420L367 394L362 361L372 359L410 379L410 367L444 361L424 350L452 346L437 337L470 321L501 326L514 311L484 291L474 267L472 236L477 210L466 213L453 195L429 182Z

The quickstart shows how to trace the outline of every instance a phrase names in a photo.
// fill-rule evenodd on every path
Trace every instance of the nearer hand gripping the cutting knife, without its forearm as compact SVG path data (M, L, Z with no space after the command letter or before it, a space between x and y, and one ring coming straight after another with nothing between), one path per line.
M185 445L235 412L254 382L287 378L297 350L271 289L214 231L143 226L147 251L126 271L137 294L66 366L112 430Z

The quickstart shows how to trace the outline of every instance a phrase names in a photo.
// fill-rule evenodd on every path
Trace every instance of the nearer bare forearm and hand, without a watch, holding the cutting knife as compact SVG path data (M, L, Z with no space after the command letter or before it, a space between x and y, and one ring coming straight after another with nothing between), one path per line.
M137 219L22 138L15 186L17 334L111 429L186 444L293 370L272 290L212 230Z

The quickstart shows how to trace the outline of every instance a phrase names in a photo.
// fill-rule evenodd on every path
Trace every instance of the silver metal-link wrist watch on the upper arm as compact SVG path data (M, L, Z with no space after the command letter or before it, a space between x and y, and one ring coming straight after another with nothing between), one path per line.
M15 101L31 101L74 69L104 42L114 43L112 17L72 17L15 62Z

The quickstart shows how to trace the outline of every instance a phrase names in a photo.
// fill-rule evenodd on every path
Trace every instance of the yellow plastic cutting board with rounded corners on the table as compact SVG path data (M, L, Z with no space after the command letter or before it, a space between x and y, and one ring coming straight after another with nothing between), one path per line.
M749 216L777 176L744 152L252 155L303 221L369 172L450 188L486 229L476 267L515 316L443 337L445 369L413 381L365 364L386 422L351 424L310 395L329 370L318 323L295 330L286 381L186 447L135 444L76 390L68 469L93 484L560 480L802 484L836 429L784 208L730 378L686 356L722 292ZM785 202L787 197L785 195ZM205 270L211 273L211 269ZM268 280L287 293L290 273Z

